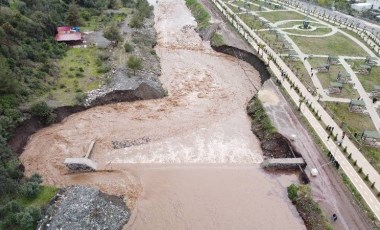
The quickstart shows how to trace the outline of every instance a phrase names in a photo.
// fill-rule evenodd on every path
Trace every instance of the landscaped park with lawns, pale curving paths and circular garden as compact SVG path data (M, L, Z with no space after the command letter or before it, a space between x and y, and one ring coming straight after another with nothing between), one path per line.
M357 32L318 18L308 18L305 13L284 6L274 6L275 3L259 0L252 2L254 5L245 1L225 2L267 46L281 54L286 65L310 92L320 96L322 105L337 124L351 134L351 138L364 130L376 130L373 118L365 109L358 113L348 109L351 100L363 96L355 85L357 82L371 98L380 97L380 67L378 63L366 67L365 59L371 54L362 47L372 51L373 48ZM309 22L308 28L303 27L305 20ZM342 58L349 67L340 63ZM310 67L313 75L308 72ZM341 87L340 92L337 87ZM366 108L368 106L373 105L366 104ZM361 145L358 141L354 143L380 172L380 149Z

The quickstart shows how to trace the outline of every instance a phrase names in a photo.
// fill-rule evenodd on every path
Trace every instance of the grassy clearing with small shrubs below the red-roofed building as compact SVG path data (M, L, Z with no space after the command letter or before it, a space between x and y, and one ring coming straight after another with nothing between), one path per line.
M50 97L63 104L76 103L78 93L93 90L101 84L97 48L71 48L59 61L60 77Z

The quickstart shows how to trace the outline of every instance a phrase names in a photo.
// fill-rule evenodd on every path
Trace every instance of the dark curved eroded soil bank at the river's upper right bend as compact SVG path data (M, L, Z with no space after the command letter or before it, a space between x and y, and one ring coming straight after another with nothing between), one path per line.
M265 62L253 53L228 45L212 46L212 48L217 52L231 55L252 65L260 74L261 84L264 84L271 76Z

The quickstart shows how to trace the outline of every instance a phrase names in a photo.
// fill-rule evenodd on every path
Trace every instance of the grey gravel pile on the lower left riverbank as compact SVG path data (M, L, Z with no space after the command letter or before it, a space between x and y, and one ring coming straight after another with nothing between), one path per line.
M84 186L64 189L46 212L37 229L122 229L130 216L122 198Z

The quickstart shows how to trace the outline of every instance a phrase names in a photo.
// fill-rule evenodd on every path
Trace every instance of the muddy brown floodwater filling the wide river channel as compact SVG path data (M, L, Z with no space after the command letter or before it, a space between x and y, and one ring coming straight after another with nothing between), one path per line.
M169 96L95 107L42 129L20 156L26 174L125 196L126 229L305 229L286 198L296 177L258 165L246 114L258 72L202 42L184 1L159 1L155 22ZM100 171L69 174L64 159L83 157L92 140Z

